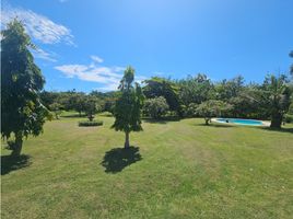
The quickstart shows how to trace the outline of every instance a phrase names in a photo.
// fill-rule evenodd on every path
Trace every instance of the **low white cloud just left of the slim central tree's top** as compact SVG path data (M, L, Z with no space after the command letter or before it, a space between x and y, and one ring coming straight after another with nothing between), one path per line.
M61 71L68 78L77 78L83 81L91 81L102 83L102 91L117 90L119 82L122 78L124 67L106 67L97 66L96 64L90 65L62 65L56 66L55 69ZM145 77L136 77L137 82L141 82Z

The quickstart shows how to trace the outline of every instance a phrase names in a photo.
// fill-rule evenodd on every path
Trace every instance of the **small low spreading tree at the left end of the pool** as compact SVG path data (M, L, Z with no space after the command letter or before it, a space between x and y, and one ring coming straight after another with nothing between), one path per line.
M212 117L221 116L230 110L231 105L223 101L209 100L198 106L197 113L204 118L206 125L209 125Z

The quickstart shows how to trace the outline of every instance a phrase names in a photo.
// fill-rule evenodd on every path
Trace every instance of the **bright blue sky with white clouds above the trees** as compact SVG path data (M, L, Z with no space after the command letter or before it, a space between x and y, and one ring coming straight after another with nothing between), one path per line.
M288 72L293 0L3 0L1 28L17 15L38 46L46 90L115 90L126 66L137 80L261 82Z

